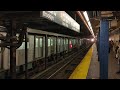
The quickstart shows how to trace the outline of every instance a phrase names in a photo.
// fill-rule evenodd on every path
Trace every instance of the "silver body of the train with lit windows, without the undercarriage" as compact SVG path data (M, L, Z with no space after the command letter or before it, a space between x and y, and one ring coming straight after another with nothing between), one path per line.
M73 48L78 48L83 44L83 39L75 38L67 35L51 33L42 30L27 28L28 31L28 69L33 68L33 62L41 60L44 62L45 58L45 35L48 36L48 52L47 57L51 54L56 55L56 47L58 54L61 52L68 53ZM58 37L58 39L56 39ZM56 46L57 43L57 46ZM1 48L0 48L1 49ZM69 51L68 51L69 50ZM25 70L25 42L16 50L16 71L19 72L20 66ZM42 65L42 64L41 64ZM0 53L0 68L8 70L10 68L10 51L5 48L4 52Z

